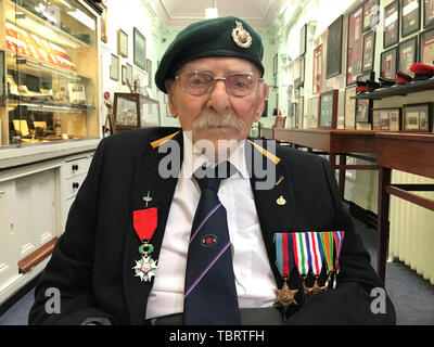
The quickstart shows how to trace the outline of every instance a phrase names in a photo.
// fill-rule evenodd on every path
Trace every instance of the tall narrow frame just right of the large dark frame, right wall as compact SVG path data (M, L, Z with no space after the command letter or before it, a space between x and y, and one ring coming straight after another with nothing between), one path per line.
M363 7L359 7L348 16L348 41L346 59L346 85L354 85L361 74L363 50Z

